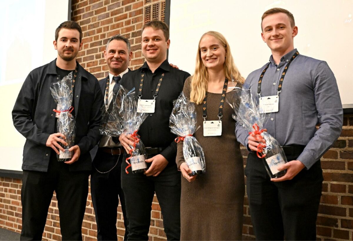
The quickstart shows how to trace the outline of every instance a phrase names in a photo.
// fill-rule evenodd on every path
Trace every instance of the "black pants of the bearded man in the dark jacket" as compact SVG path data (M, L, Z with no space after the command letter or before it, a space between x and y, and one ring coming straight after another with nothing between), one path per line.
M20 240L42 240L48 208L55 190L62 240L82 240L82 221L88 195L88 171L69 171L52 153L48 172L23 171Z

